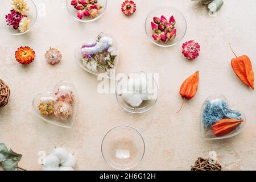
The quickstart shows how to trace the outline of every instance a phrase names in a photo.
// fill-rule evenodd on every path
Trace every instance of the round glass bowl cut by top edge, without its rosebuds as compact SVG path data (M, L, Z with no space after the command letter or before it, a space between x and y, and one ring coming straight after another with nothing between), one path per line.
M73 5L71 5L71 2L72 0L66 0L68 13L79 22L94 22L105 13L106 7L108 6L108 0L98 0L97 5L102 6L102 8L98 10L98 16L91 18L90 16L84 15L82 16L82 19L80 19L77 16L77 12L79 12L79 10L77 10Z

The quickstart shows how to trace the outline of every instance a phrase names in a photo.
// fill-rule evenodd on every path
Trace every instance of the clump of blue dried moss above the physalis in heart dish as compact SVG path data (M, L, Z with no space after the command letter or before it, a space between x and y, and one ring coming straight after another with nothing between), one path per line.
M240 111L228 109L228 104L220 98L207 101L203 111L204 127L212 126L221 119L241 119Z

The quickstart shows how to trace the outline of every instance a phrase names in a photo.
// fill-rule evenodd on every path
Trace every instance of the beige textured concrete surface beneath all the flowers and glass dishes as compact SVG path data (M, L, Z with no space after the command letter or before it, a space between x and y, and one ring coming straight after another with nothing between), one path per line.
M256 71L256 16L254 0L225 0L216 16L209 16L205 6L189 0L137 0L137 12L127 18L121 2L110 0L104 16L92 23L79 23L65 9L64 0L35 0L46 6L46 16L39 16L37 26L28 34L11 36L0 31L0 78L11 89L9 104L0 109L0 142L23 154L19 166L40 170L38 152L50 152L54 146L75 152L76 169L112 170L101 156L101 140L118 125L138 129L146 142L146 153L137 170L189 170L197 157L216 151L226 170L256 169L256 97L234 74L230 60L237 55L250 57ZM171 48L155 46L144 31L144 20L158 6L174 6L187 17L187 34ZM96 77L75 62L79 43L94 38L98 32L112 33L121 43L118 73L143 70L159 73L159 102L148 113L133 115L122 110L114 94L98 94ZM183 42L200 43L200 57L194 61L181 55ZM17 47L30 46L36 61L27 67L16 63ZM63 61L51 66L44 53L60 48ZM196 70L200 85L196 97L179 109L181 82ZM60 80L73 82L80 104L72 130L43 122L32 108L34 94L53 88ZM224 94L234 109L246 115L246 127L236 137L217 141L200 137L200 111L204 100L213 93Z

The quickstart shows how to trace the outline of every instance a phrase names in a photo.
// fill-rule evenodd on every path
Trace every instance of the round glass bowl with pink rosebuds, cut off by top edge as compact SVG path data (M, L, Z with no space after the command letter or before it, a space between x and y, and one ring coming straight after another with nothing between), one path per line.
M100 18L108 5L108 0L66 0L69 14L80 22L93 22Z

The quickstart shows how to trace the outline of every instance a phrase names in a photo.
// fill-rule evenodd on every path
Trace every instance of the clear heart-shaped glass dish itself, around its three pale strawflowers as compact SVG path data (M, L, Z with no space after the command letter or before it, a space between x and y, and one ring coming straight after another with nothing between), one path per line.
M61 102L62 101L57 101L56 100L56 93L59 93L60 88L63 89L69 89L72 91L72 104L70 104L70 106L72 106L72 114L68 116L67 119L60 119L55 117L55 114L51 113L51 115L44 115L42 114L42 112L39 110L39 105L42 103L42 100L51 100L54 103L56 102ZM60 93L61 98L64 98L64 94ZM55 88L53 89L53 92L48 91L48 92L42 92L42 93L38 93L36 94L33 102L32 102L32 106L34 107L35 113L36 115L38 115L39 118L43 119L44 121L51 123L52 125L56 125L56 126L60 126L60 127L65 127L68 129L71 129L75 123L75 119L76 119L76 114L77 114L77 107L79 104L79 96L77 93L77 90L75 88L75 86L73 86L73 84L67 82L67 81L60 81ZM68 104L67 104L68 105ZM56 108L54 108L56 109Z

